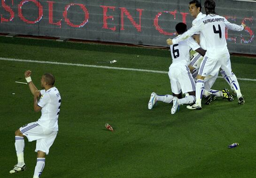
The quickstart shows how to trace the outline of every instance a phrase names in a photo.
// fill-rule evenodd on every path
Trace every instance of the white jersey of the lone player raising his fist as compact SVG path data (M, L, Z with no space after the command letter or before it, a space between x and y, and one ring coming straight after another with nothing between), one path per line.
M46 129L58 131L58 117L61 107L61 95L56 87L49 90L41 90L41 98L38 106L42 107L42 115L37 121Z

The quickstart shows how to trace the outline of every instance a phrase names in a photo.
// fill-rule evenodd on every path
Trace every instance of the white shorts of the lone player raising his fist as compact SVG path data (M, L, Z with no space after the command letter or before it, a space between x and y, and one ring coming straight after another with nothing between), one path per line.
M36 152L43 151L47 155L58 133L58 131L43 128L37 122L24 125L20 128L20 132L28 138L29 142L37 141Z

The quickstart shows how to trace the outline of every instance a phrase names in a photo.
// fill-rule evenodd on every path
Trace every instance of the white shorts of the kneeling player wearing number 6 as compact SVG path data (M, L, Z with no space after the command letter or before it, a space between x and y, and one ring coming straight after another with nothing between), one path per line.
M188 93L195 91L195 82L189 68L185 64L171 64L168 72L171 91L174 94Z

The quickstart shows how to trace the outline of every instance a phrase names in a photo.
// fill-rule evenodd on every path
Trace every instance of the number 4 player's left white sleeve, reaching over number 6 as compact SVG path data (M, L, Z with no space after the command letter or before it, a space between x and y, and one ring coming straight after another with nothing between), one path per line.
M196 23L195 23L195 25L192 27L192 28L190 28L189 30L187 30L185 33L183 33L182 35L180 35L180 36L178 36L178 37L176 37L175 39L173 39L172 40L172 43L173 44L177 44L178 42L181 42L181 41L183 41L183 40L186 40L188 37L190 37L190 36L193 36L194 34L196 34L196 33L198 33L198 32L200 32L200 31L202 31L202 29L203 29L203 23L202 23L202 21L197 21Z

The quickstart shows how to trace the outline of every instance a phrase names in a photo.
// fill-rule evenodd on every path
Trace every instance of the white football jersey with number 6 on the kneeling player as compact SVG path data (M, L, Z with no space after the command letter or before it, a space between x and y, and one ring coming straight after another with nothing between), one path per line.
M192 37L189 37L186 40L179 42L178 44L171 45L170 49L172 64L183 63L188 65L190 63L189 50L191 50L191 48L193 50L197 50L198 48L200 48L199 44L196 43Z

